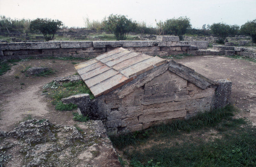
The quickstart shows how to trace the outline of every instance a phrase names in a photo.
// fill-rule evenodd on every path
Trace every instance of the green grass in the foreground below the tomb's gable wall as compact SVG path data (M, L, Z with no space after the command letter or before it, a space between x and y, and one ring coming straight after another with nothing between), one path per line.
M233 118L235 111L228 105L189 120L111 136L111 141L136 167L255 166L256 128L243 118Z

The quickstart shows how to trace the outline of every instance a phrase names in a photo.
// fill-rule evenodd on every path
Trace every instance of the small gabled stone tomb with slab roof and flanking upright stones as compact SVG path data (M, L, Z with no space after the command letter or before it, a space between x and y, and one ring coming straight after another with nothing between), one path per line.
M211 81L178 62L117 48L75 68L95 99L80 94L62 99L102 120L108 135L146 129L229 103L232 82Z

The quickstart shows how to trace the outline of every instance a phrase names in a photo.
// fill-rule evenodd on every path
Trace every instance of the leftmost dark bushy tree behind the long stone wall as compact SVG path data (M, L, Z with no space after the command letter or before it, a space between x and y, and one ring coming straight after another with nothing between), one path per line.
M63 23L60 20L51 20L47 18L37 18L31 21L29 28L31 31L40 31L46 41L53 40L55 33L60 29Z

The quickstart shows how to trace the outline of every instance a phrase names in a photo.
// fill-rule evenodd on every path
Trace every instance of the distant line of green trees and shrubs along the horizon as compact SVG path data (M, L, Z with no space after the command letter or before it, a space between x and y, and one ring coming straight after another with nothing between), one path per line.
M218 43L224 43L228 36L250 35L252 42L256 43L256 19L246 22L241 27L238 25L227 25L225 23L204 24L202 28L192 28L190 19L185 17L171 18L163 21L156 20L156 27L148 26L146 22L137 22L127 18L125 15L109 15L103 20L92 20L84 18L87 29L106 30L116 36L116 40L125 40L129 33L137 34L156 34L156 35L175 35L183 40L183 36L216 36ZM52 40L57 30L66 28L59 20L37 18L29 19L11 19L0 16L1 31L21 31L23 33L40 31L44 34L45 40Z

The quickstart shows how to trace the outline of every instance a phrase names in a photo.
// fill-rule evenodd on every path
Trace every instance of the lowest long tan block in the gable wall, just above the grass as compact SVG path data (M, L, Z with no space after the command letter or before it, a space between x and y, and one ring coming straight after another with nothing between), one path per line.
M173 111L173 112L165 112L165 113L157 113L157 114L150 114L150 115L140 115L139 122L146 123L146 122L153 122L159 120L170 120L173 118L182 118L186 116L186 110L180 111Z

